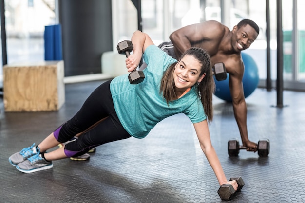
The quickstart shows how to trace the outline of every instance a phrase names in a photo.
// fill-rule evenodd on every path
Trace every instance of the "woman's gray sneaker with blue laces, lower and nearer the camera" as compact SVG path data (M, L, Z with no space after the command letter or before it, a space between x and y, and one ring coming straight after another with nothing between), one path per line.
M41 157L41 154L35 154L16 166L16 168L23 173L33 173L40 170L50 169L52 167L52 162L47 162Z

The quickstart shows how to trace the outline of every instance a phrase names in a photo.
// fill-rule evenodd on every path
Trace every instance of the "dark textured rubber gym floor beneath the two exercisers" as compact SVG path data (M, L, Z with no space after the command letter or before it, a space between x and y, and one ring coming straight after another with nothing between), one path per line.
M104 81L66 84L66 102L53 112L4 112L0 98L1 203L304 203L305 92L256 89L246 98L250 140L270 140L270 153L241 150L229 157L228 140L239 138L232 105L214 97L210 134L227 178L242 176L245 186L222 201L219 184L184 114L169 117L144 139L108 143L89 161L54 161L49 170L19 172L8 157L38 144L71 118ZM129 102L129 101L126 101Z

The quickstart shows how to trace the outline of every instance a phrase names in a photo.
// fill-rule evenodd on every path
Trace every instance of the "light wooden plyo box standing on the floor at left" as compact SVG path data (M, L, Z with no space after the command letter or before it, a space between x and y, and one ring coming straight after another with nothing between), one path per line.
M58 111L65 103L64 62L3 66L3 103L9 111Z

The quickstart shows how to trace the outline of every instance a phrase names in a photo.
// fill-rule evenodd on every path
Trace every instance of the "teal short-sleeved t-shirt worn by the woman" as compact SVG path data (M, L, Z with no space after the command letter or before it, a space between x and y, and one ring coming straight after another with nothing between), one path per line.
M198 93L191 88L181 98L167 104L160 83L163 72L170 64L176 62L155 45L147 47L144 52L143 82L132 85L128 74L115 77L110 83L114 109L124 129L136 138L144 138L151 129L164 118L177 113L185 113L192 123L206 119Z

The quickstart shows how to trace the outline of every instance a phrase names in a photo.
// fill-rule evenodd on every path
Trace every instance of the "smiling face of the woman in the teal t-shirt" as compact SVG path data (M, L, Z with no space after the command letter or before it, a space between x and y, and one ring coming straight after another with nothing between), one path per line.
M202 64L192 55L185 55L175 66L174 82L177 91L184 92L197 82L201 82L206 74L200 76Z

